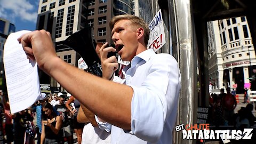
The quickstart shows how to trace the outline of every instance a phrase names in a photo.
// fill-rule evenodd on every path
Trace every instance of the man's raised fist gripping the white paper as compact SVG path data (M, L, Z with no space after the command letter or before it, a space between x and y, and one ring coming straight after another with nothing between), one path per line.
M28 59L36 60L38 67L48 73L51 65L46 65L46 63L52 62L53 58L58 58L51 34L45 30L36 30L22 35L18 41L22 44Z

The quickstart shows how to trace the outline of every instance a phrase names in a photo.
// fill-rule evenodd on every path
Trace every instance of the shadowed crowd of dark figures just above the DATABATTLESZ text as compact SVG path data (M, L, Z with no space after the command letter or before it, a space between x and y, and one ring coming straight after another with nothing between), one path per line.
M253 104L248 103L247 89L245 89L244 103L246 107L241 107L237 113L234 112L237 106L236 90L230 90L227 93L224 89L220 90L220 94L211 94L211 124L215 126L234 126L235 129L245 129L255 125L256 118L252 114ZM256 107L255 107L256 110Z

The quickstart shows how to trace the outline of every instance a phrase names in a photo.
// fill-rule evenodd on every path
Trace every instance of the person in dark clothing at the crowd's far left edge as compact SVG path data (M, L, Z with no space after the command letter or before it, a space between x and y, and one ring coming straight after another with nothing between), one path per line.
M11 111L10 111L9 101L5 103L4 115L5 115L6 142L7 144L10 144L13 141L13 123L12 123L13 115L11 114Z

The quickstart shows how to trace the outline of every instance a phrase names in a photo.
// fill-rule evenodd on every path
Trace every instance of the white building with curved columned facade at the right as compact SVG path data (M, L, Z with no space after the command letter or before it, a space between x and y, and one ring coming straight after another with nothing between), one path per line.
M256 58L246 17L208 23L209 81L213 89L256 89Z

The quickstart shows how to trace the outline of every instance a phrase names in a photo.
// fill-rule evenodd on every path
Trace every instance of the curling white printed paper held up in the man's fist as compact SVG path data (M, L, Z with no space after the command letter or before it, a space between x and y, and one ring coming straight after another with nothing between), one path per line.
M17 41L21 35L29 32L22 30L10 34L4 45L4 70L11 113L30 107L42 97L37 63L27 59L22 45Z

